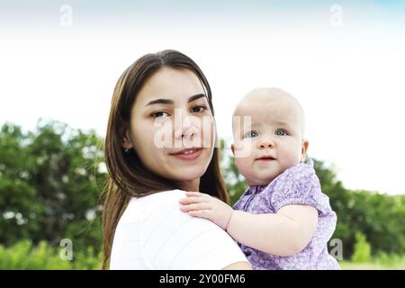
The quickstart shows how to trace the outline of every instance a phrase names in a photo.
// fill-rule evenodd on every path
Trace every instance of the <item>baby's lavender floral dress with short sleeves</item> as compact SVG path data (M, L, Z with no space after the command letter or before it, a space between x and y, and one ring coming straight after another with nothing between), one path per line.
M311 242L292 257L279 257L239 244L254 269L340 269L328 253L327 243L337 223L329 197L320 191L313 161L300 163L278 175L267 186L251 186L234 208L249 213L276 213L285 205L311 205L318 210L318 227Z

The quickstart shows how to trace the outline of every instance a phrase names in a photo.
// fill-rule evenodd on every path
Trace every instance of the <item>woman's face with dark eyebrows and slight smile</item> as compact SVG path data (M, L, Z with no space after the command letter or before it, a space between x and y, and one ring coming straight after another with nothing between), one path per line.
M198 190L210 164L214 125L202 84L187 69L160 68L139 91L124 147L157 175Z

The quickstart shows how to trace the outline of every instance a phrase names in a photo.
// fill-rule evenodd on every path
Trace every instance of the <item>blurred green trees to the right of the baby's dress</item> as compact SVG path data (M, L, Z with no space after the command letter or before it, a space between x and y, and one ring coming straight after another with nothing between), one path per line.
M316 160L315 170L322 191L329 196L330 205L338 214L333 238L342 239L346 258L354 253L357 232L366 236L374 256L379 252L404 254L405 195L351 191L336 179L330 166Z

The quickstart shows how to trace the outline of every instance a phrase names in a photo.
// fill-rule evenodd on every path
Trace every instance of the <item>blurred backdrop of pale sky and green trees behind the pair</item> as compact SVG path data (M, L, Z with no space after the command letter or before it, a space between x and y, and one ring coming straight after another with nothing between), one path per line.
M231 115L292 93L344 269L405 269L405 1L0 1L0 269L99 269L113 87L178 49L207 76L232 202ZM401 132L402 131L402 132Z

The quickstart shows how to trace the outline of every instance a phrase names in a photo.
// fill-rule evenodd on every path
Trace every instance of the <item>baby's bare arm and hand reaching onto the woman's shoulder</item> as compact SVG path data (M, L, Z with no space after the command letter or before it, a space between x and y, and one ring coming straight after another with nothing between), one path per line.
M302 251L318 224L318 211L309 205L286 205L277 213L234 211L225 202L204 193L186 193L182 211L213 221L239 243L277 256Z

